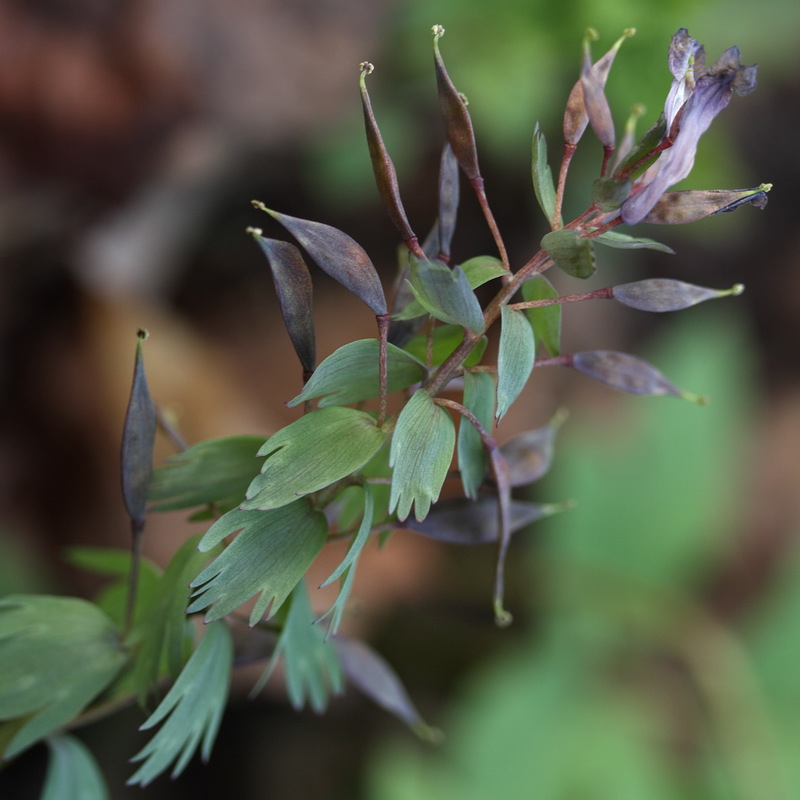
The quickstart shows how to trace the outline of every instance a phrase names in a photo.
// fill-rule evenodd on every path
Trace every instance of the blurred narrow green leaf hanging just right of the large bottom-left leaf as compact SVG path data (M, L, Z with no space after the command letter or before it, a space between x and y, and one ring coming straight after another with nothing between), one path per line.
M146 702L147 696L156 689L162 674L176 678L183 667L189 582L209 560L207 553L197 552L199 538L187 539L172 557L142 620L142 642L133 667L133 691L141 703Z

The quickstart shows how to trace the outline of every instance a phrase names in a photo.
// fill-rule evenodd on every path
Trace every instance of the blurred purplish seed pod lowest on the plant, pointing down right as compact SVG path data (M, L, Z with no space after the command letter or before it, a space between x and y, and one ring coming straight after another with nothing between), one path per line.
M333 646L350 683L405 722L421 739L441 741L441 731L422 719L395 671L374 650L364 642L342 637L334 639Z

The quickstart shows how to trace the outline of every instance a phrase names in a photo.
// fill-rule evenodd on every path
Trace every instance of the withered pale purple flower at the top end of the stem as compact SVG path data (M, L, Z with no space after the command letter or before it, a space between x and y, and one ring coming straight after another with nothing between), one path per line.
M668 149L636 182L622 204L622 221L628 225L641 222L661 195L692 171L700 137L728 105L731 95L745 95L756 87L756 67L739 63L738 47L726 50L707 68L702 45L686 28L672 37L669 67L674 80L664 104L667 129L662 142Z

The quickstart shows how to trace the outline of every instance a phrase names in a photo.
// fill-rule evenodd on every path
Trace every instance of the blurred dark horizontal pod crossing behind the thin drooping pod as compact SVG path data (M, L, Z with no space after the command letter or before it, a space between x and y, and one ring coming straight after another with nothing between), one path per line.
M566 508L563 503L512 500L509 505L511 533ZM497 497L484 495L477 500L463 497L440 500L422 522L409 519L403 527L446 544L492 544L498 538Z

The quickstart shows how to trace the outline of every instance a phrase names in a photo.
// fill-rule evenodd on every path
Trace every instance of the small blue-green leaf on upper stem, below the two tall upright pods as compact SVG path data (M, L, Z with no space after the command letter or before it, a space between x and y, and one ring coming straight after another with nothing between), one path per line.
M483 311L460 267L417 260L411 267L411 290L432 317L483 332Z

